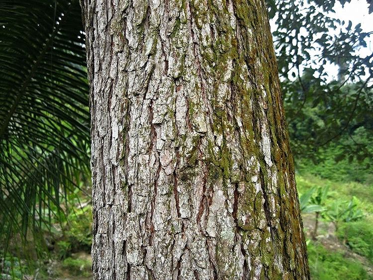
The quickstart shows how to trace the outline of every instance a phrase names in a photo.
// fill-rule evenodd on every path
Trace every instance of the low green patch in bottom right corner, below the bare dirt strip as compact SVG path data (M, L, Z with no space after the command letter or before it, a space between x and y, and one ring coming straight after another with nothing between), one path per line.
M320 244L308 243L308 261L313 280L371 280L363 265Z

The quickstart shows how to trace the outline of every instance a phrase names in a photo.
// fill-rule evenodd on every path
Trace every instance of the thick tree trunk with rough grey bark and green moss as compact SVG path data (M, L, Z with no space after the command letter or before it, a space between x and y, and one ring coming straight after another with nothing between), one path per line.
M84 0L95 279L308 279L264 0Z

